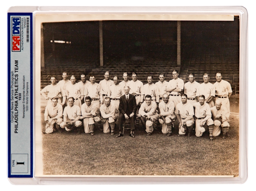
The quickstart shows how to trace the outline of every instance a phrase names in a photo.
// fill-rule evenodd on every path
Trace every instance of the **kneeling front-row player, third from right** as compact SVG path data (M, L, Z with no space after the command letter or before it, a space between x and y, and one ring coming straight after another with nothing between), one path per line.
M175 108L175 115L179 122L179 134L178 136L185 136L186 130L188 129L188 136L191 136L194 119L194 108L192 104L187 102L187 95L181 95L181 103L178 103Z

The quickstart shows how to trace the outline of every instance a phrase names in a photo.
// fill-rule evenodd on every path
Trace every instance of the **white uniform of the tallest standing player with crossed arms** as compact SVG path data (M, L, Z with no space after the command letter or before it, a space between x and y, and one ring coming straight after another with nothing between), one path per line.
M177 78L176 80L172 79L168 83L167 89L169 88L180 88L181 90L183 90L184 81L180 78ZM179 94L179 92L171 91L169 95L169 100L171 100L176 107L176 105L181 102L181 95Z

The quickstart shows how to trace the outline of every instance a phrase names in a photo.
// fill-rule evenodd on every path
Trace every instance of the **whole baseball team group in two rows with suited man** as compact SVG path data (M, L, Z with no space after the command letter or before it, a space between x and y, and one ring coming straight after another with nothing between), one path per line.
M222 74L216 73L216 82L209 82L209 74L203 74L203 83L195 81L195 75L188 75L189 81L179 78L177 70L172 71L173 79L165 81L165 74L159 74L159 81L153 83L153 76L147 76L147 84L137 79L137 73L123 73L123 81L118 76L110 79L105 72L100 83L95 82L94 74L89 81L81 74L81 81L63 72L63 80L56 83L51 76L51 84L41 90L48 100L45 107L45 131L84 131L94 135L95 122L104 133L115 134L115 126L119 125L117 137L124 135L125 125L130 124L130 137L134 138L135 127L141 121L146 127L147 136L152 135L155 128L162 127L162 133L172 135L173 124L178 122L178 136L192 136L195 129L197 137L209 131L209 139L219 136L230 136L229 116L232 94L231 85L222 80ZM215 102L214 102L215 100ZM118 119L118 124L116 121ZM194 132L194 131L193 131Z

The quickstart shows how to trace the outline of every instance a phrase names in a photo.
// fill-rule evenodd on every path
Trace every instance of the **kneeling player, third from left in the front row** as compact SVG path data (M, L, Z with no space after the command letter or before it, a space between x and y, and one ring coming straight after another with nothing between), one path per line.
M79 118L84 122L85 133L91 133L94 135L94 118L97 118L97 121L100 120L99 117L96 117L96 106L92 103L90 96L85 97L85 103L82 104L81 113L82 116Z

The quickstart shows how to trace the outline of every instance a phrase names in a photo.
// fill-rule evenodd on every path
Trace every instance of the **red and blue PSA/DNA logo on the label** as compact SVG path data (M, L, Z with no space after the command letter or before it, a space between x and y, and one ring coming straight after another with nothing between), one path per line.
M11 18L12 52L20 52L20 17Z

